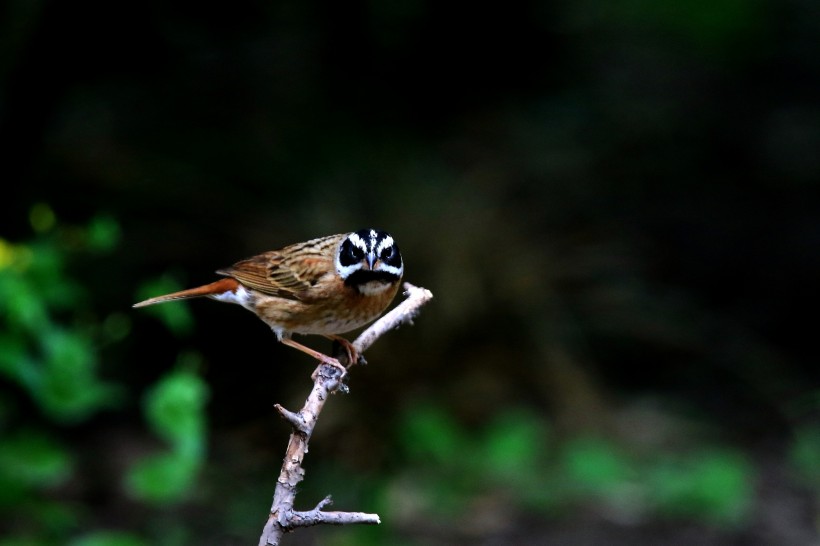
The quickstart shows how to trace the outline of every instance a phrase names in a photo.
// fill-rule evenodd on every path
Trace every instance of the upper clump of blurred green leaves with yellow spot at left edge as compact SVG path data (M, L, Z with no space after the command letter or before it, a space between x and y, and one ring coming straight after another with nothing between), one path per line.
M95 344L127 332L83 318L87 287L69 276L66 262L79 251L111 250L118 227L100 217L85 231L52 231L56 220L44 204L32 207L30 217L39 238L23 245L0 240L0 373L25 389L50 419L77 423L121 396L98 376Z

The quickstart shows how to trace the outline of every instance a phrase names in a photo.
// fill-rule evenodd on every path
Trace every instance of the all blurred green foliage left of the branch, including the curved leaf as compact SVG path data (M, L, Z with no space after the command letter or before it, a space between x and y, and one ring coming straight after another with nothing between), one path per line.
M119 225L109 216L82 228L62 225L44 203L31 208L29 220L32 240L0 239L0 374L14 387L0 391L0 545L147 544L133 530L87 528L88 514L71 501L70 488L87 480L80 466L88 454L65 441L127 401L123 385L103 378L100 347L124 339L130 321L121 312L100 316L90 305L91 287L71 273L78 258L115 250ZM179 322L169 327L180 330ZM169 448L131 465L124 479L149 505L185 498L205 459L208 387L196 370L196 354L184 355L145 395L148 427ZM26 415L29 405L41 415Z

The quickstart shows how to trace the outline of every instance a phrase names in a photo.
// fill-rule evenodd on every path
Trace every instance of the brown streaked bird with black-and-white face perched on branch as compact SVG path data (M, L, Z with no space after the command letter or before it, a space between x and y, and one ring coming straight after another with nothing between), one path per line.
M199 297L238 304L262 319L281 343L340 369L344 376L347 369L338 359L294 341L292 335L337 341L347 353L348 366L355 364L360 355L339 334L384 312L398 292L404 262L389 233L368 228L264 252L216 274L223 278L134 307Z

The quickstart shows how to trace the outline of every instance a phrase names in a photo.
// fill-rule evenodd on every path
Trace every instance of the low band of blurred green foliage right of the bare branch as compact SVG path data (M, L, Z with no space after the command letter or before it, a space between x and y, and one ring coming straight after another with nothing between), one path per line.
M696 445L641 451L601 436L557 438L538 414L502 410L479 428L443 407L409 411L399 428L409 464L382 507L421 521L471 517L476 499L525 513L557 514L598 503L630 520L677 518L742 524L757 471L736 449ZM423 500L423 503L421 502Z

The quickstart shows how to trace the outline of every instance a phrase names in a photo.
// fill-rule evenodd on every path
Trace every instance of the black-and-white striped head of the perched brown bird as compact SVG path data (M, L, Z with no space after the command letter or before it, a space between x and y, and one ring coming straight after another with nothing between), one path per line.
M336 272L346 285L361 292L380 292L398 282L404 263L393 237L377 229L361 229L348 235L336 253Z

